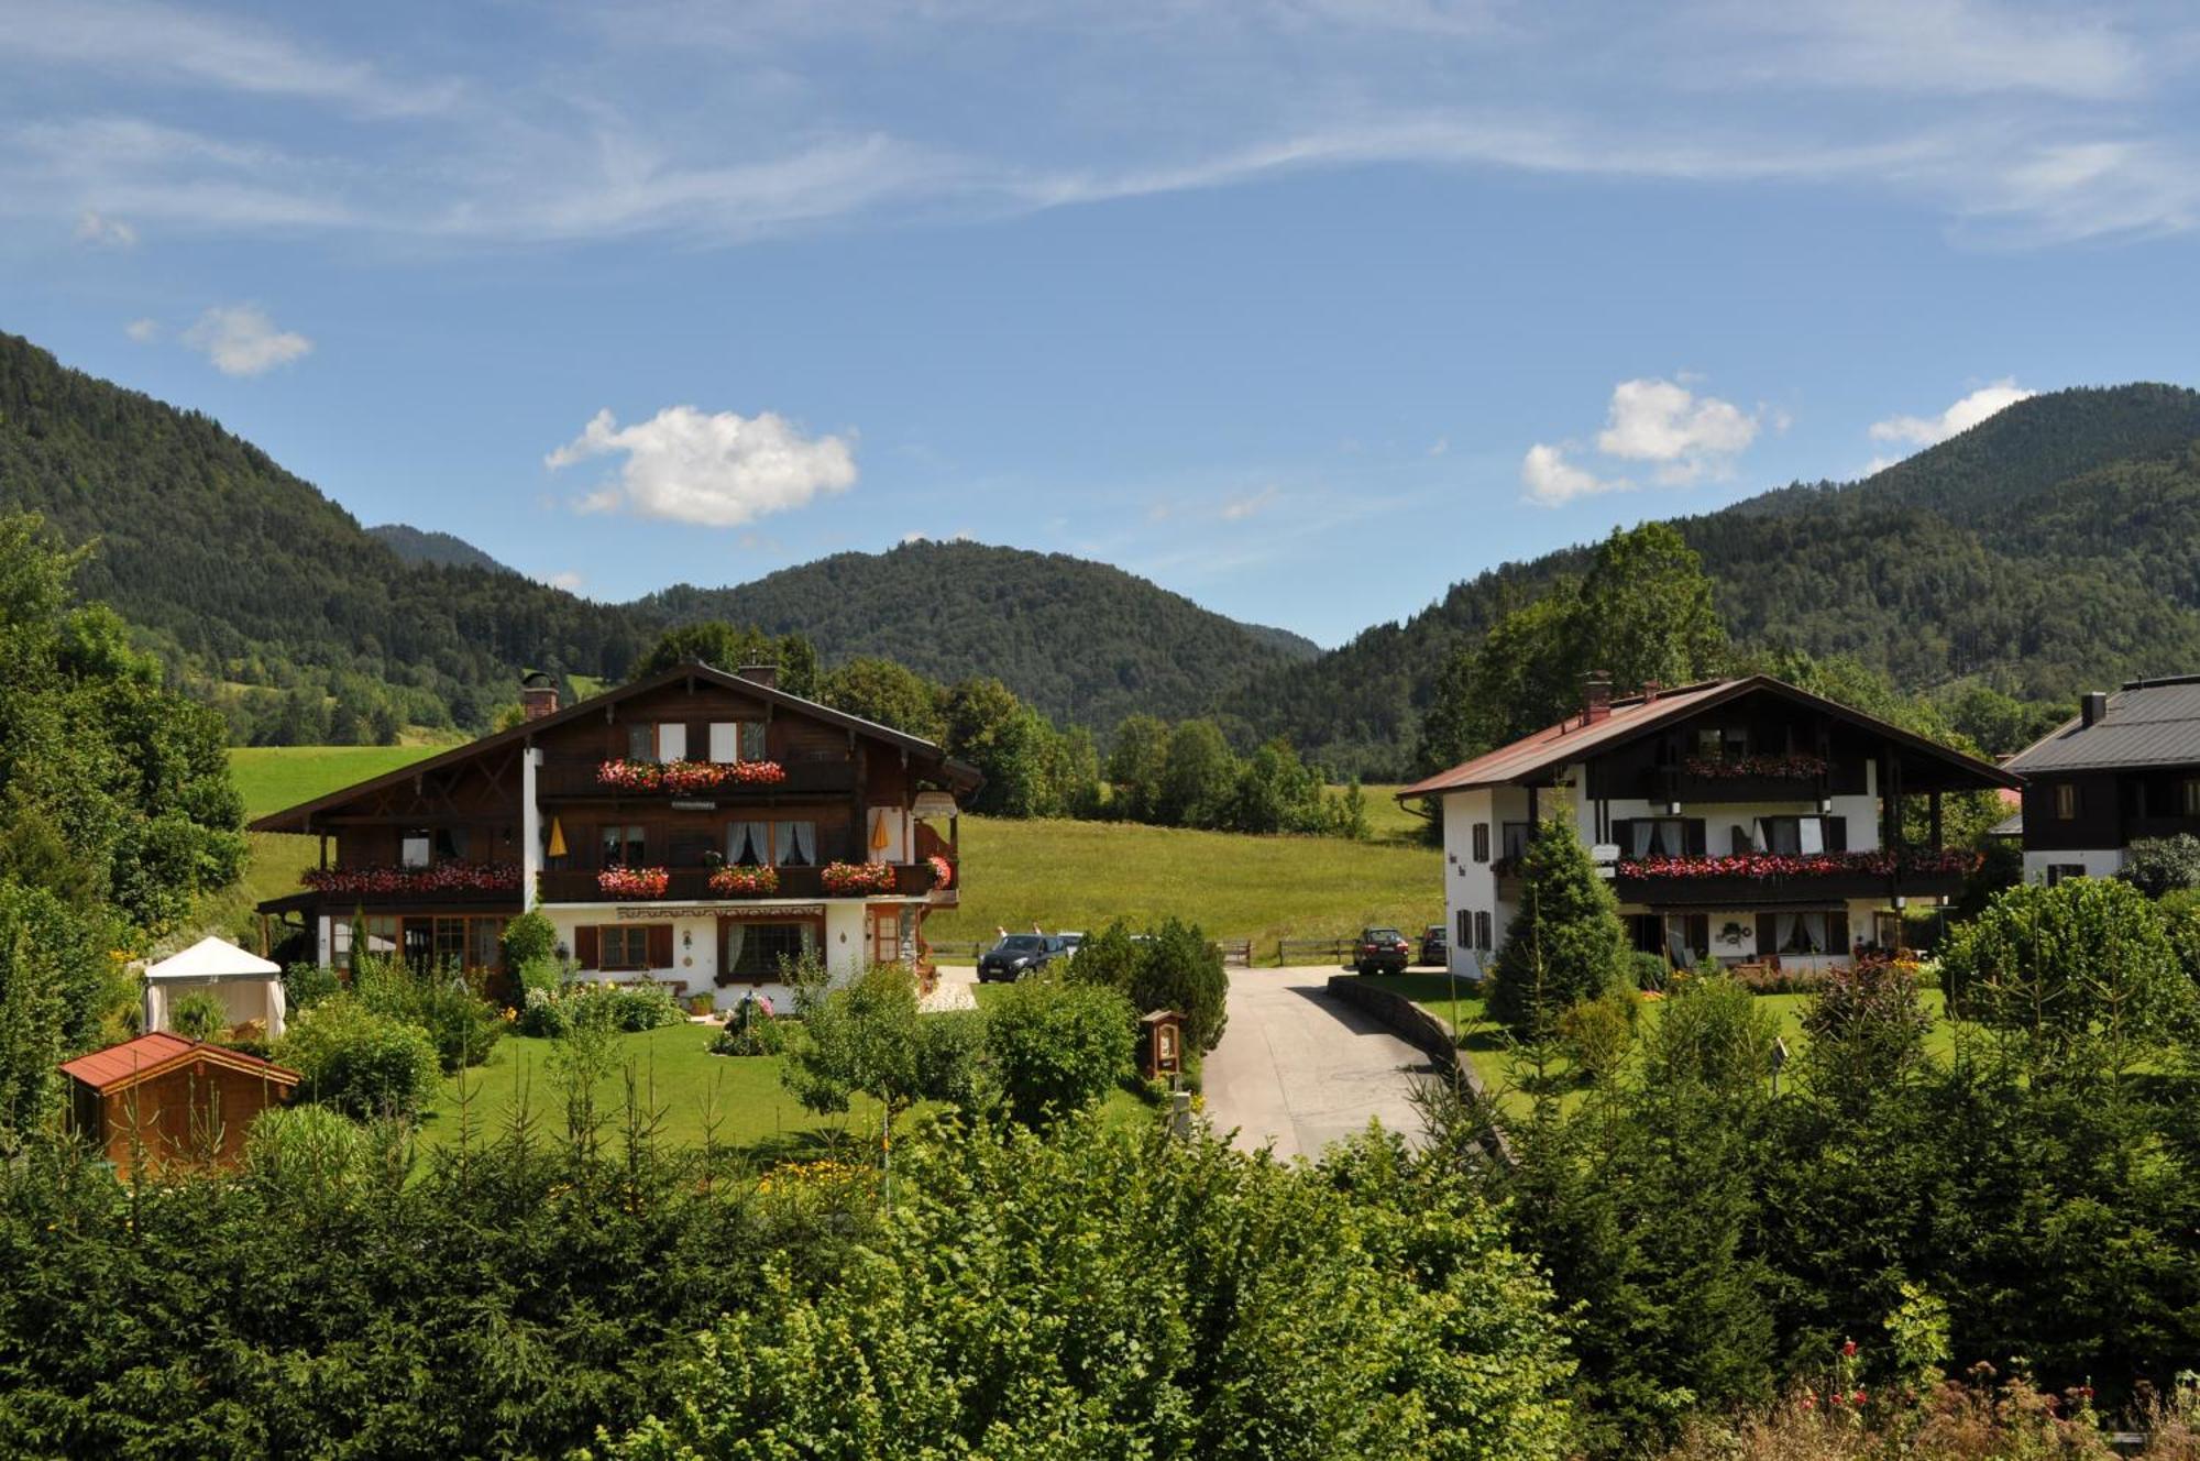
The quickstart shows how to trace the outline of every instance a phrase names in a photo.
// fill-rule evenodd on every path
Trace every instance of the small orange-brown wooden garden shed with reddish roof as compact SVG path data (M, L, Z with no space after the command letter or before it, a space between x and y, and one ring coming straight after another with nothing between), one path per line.
M128 1175L134 1155L163 1162L235 1164L253 1118L290 1100L299 1076L273 1061L187 1041L141 1034L62 1065L68 1124Z

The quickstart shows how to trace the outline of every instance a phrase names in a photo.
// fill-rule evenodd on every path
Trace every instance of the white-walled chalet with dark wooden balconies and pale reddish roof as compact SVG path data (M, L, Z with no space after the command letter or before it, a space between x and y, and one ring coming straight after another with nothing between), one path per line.
M1397 792L1443 808L1452 968L1505 942L1533 830L1569 819L1613 880L1635 946L1672 964L1819 968L1896 946L1901 911L1960 891L1943 797L2015 777L1769 675L1613 697ZM1905 838L1905 812L1923 832Z

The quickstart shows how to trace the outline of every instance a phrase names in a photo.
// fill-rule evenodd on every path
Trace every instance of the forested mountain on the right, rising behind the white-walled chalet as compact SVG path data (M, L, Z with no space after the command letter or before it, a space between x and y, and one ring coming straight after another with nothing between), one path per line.
M2033 396L1863 482L1795 484L1676 519L1742 649L1848 653L1910 691L2068 700L2200 669L2200 394ZM1454 585L1223 702L1258 735L1401 775L1445 660L1586 563L1580 548Z

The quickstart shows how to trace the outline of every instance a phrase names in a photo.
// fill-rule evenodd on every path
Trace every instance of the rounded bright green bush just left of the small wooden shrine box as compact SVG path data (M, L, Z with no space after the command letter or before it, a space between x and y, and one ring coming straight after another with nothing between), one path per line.
M1137 1014L1091 984L1023 981L986 1006L986 1054L1008 1113L1045 1129L1131 1072Z

